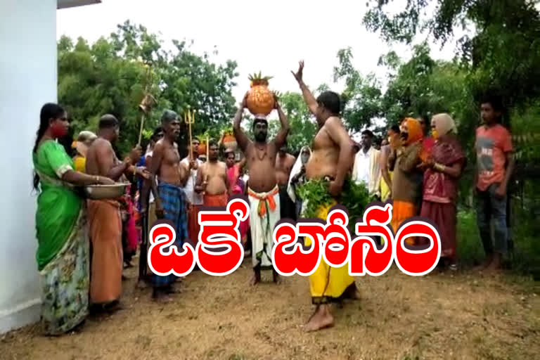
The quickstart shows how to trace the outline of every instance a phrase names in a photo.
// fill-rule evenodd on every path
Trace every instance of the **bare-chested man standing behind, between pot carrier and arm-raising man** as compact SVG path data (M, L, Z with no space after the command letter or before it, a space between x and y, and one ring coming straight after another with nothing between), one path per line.
M296 207L287 193L290 171L295 165L296 158L287 153L287 141L279 148L276 157L276 181L279 186L279 206L281 219L293 219L296 221Z

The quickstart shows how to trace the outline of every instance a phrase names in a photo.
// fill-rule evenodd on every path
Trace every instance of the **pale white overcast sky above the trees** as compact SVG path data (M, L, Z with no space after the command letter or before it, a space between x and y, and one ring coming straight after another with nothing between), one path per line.
M240 76L233 95L241 100L249 89L248 75L262 71L273 76L270 88L280 92L299 91L290 70L304 60L304 81L316 88L333 83L333 67L338 65L338 50L352 48L355 68L364 75L375 72L385 82L385 70L378 59L390 50L378 34L368 32L362 23L366 2L358 0L305 1L172 1L102 0L101 4L62 9L57 12L57 37L84 37L90 42L115 32L116 25L131 20L150 32L160 34L165 46L172 39L193 40L193 52L212 54L210 60L224 63L236 60ZM399 11L404 1L394 2L389 10ZM421 41L423 38L417 39ZM432 46L432 56L449 60L455 44L443 49ZM394 45L392 50L410 57L410 48Z

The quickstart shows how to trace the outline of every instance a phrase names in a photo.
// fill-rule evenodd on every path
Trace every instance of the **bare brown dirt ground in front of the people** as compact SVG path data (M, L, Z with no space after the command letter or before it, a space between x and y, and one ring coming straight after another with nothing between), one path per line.
M413 278L393 267L380 278L357 278L362 300L336 307L334 328L306 334L307 278L250 288L249 266L246 261L224 278L191 274L170 304L155 304L150 290L135 289L131 269L124 310L89 319L81 333L61 338L45 338L37 326L1 335L0 359L515 360L540 354L537 284L471 271Z

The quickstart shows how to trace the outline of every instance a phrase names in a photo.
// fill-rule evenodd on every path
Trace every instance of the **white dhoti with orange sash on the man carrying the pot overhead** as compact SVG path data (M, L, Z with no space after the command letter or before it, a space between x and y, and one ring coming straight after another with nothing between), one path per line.
M255 193L248 188L250 196L250 227L253 266L272 266L272 246L274 227L280 219L279 188L268 193Z

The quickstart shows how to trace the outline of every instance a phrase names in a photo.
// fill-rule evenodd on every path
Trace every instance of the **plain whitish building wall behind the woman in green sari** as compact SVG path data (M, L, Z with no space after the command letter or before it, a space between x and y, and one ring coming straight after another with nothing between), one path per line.
M39 320L31 153L55 101L56 0L0 0L0 333Z

